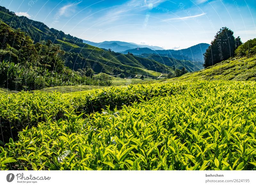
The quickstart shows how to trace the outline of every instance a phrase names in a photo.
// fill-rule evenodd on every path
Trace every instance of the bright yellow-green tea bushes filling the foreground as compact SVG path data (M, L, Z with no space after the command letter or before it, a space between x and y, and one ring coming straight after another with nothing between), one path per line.
M1 121L24 128L0 147L0 167L255 170L255 94L255 82L198 81L6 95Z

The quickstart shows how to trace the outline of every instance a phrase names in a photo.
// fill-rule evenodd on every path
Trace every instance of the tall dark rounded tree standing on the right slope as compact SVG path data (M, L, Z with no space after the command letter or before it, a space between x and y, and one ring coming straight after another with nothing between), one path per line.
M222 27L217 32L211 45L204 53L204 67L215 65L234 56L236 40L233 34L234 32L227 27Z

